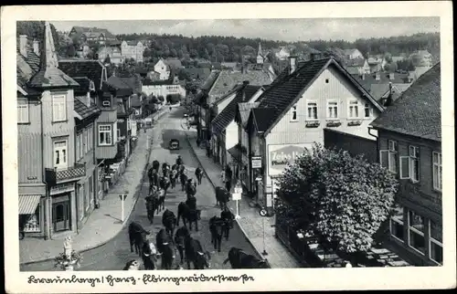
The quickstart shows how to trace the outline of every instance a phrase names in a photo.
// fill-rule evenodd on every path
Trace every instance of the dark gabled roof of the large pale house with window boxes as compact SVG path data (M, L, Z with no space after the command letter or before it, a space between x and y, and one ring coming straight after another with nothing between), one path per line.
M289 67L284 69L280 77L277 78L280 80L275 81L274 85L271 85L271 88L263 92L260 96L260 106L258 109L270 109L259 113L264 114L268 112L268 117L261 119L261 128L271 130L273 125L281 119L283 113L292 107L292 104L299 99L303 91L314 82L314 79L317 79L324 69L329 67L334 67L341 72L343 77L348 79L377 110L383 110L383 107L377 103L367 90L360 86L334 58L312 59L299 63L297 69L292 74L288 74Z

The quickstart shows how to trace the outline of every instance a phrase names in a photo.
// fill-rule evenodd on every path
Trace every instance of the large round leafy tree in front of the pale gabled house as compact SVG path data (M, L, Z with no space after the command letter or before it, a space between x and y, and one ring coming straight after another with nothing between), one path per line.
M278 220L352 255L372 246L393 208L398 182L378 163L314 144L312 153L286 168L279 186L290 205L277 212Z

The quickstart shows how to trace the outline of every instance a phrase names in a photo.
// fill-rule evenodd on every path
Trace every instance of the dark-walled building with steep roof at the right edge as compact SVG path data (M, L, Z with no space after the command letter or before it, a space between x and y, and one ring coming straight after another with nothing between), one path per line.
M386 243L417 266L442 264L440 70L430 68L371 123L379 162L399 179Z

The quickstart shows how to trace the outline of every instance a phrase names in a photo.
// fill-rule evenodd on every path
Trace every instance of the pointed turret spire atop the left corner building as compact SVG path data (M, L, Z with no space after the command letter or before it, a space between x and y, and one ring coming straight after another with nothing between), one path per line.
M34 88L78 87L80 84L58 69L56 47L54 47L54 39L48 22L45 23L43 39L40 67L37 74L30 80L29 86Z

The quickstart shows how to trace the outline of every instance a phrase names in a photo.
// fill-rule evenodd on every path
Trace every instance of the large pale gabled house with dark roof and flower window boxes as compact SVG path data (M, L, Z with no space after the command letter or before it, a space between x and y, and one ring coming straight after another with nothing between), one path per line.
M291 57L259 101L246 127L251 168L255 159L250 186L270 210L284 168L314 142L324 145L324 128L375 140L367 127L384 110L334 58L318 56L301 63Z

